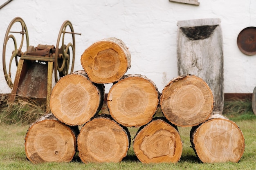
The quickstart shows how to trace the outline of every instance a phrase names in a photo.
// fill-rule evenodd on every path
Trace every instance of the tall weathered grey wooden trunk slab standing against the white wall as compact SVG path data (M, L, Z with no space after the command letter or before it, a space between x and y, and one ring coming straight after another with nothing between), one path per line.
M178 21L178 75L204 79L214 96L214 114L224 107L223 40L219 18Z

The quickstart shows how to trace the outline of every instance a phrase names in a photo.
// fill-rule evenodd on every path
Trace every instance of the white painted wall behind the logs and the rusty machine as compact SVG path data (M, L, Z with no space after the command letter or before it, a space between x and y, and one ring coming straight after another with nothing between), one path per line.
M0 5L7 0L0 0ZM252 93L256 86L256 55L236 44L238 34L256 26L255 0L198 0L199 6L168 0L13 0L0 9L0 54L11 20L21 17L29 44L56 45L59 29L70 20L76 35L75 70L92 43L116 37L129 48L132 66L126 74L142 74L159 91L177 77L177 21L220 18L223 35L225 93ZM2 58L2 57L1 57ZM106 93L112 84L106 85ZM0 60L0 93L9 93Z

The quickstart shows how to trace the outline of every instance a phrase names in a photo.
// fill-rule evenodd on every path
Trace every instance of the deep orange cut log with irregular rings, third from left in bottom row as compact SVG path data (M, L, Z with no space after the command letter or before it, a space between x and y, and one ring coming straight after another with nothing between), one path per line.
M142 163L175 163L182 155L182 140L175 125L157 117L141 126L134 137L133 149Z

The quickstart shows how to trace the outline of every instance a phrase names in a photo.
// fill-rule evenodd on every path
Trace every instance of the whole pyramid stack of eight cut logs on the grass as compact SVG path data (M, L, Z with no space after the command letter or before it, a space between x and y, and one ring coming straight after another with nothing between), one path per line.
M180 160L177 126L192 127L191 144L202 162L242 157L242 132L227 118L212 115L213 95L200 77L176 77L160 96L146 76L125 75L131 56L117 38L92 44L81 55L81 65L83 70L62 77L52 89L52 113L29 126L25 152L31 162L69 162L77 151L84 163L119 162L130 147L127 127L139 128L133 149L143 163ZM110 114L98 115L108 83L113 83L107 97ZM153 118L159 106L164 117Z

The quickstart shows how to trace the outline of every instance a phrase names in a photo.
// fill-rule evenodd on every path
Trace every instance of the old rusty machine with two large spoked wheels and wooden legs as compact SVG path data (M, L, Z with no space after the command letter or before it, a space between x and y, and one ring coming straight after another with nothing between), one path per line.
M49 99L54 80L57 82L60 77L74 70L75 34L81 35L74 33L71 22L66 20L58 33L56 46L39 44L34 47L29 46L25 22L19 17L10 22L4 37L2 53L4 77L12 89L9 102L13 102L16 96L46 99L46 112L49 113ZM18 35L18 38L14 35ZM68 36L69 39L66 40ZM69 40L71 42L67 42ZM13 42L13 51L9 49L8 41ZM7 53L11 56L9 64Z

